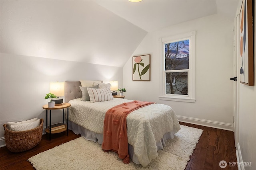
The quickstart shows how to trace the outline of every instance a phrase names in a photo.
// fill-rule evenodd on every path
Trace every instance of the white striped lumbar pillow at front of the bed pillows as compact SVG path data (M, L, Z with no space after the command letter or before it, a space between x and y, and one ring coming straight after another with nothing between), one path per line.
M109 88L87 88L87 90L92 103L113 100L113 96Z

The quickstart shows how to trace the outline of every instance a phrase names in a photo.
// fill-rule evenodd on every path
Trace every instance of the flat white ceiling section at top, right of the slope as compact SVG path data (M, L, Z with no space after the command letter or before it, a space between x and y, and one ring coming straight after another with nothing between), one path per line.
M95 0L104 8L151 32L204 16L224 13L234 20L238 0Z

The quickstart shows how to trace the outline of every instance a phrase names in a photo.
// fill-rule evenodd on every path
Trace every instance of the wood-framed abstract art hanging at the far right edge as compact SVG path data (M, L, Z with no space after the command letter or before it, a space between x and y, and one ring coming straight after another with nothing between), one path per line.
M240 10L240 83L254 86L252 0L243 0Z

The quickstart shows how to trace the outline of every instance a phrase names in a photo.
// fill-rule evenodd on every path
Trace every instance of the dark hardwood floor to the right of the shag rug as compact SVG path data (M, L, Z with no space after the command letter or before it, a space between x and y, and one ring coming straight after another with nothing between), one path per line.
M228 166L229 162L237 162L234 132L183 122L180 125L204 130L186 170L238 170L236 166ZM227 162L226 168L220 168L222 160Z

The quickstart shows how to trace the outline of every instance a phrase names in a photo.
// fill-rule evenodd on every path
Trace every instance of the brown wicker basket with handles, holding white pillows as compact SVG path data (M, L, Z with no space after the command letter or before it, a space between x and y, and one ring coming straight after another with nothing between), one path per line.
M4 139L8 150L11 152L23 152L38 145L42 139L44 119L40 119L40 125L27 131L10 131L4 124Z

